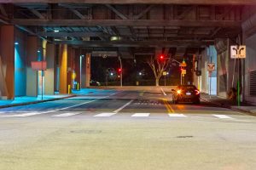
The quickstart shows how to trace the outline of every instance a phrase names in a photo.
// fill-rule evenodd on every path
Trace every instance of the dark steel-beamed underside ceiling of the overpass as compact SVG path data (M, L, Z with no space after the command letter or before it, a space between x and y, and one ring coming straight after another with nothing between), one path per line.
M0 0L0 22L50 42L88 48L203 48L215 38L241 33L242 9L256 4L255 0L37 2Z

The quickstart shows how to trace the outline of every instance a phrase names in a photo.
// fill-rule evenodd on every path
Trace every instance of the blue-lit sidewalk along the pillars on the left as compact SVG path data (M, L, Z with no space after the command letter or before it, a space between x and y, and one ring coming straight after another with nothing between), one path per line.
M76 96L76 95L74 95L74 94L63 94L63 95L55 94L55 95L44 95L43 100L42 100L41 95L38 95L38 97L28 97L28 96L15 97L14 100L0 99L0 109L6 108L6 107L18 106L18 105L37 104L37 103L53 101L53 100L57 100L57 99L67 99L67 98L71 98L74 96Z

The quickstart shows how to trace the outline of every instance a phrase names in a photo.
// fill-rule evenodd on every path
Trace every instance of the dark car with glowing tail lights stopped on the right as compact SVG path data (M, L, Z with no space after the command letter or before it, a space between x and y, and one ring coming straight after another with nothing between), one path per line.
M200 104L200 91L194 85L180 85L177 89L172 89L172 102L193 102Z

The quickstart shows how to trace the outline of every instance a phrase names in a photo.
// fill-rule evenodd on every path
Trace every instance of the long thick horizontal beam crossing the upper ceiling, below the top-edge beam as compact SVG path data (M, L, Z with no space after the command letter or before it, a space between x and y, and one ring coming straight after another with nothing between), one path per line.
M207 26L241 27L241 21L234 20L35 20L14 19L20 26Z

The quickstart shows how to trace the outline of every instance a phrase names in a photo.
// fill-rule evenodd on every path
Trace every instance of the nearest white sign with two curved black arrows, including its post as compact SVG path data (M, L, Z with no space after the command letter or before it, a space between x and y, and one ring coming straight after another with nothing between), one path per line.
M246 46L245 45L233 45L230 46L231 59L238 59L238 77L237 77L237 105L241 105L241 91L240 91L240 59L246 59Z

